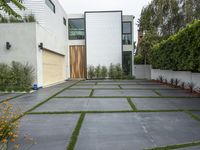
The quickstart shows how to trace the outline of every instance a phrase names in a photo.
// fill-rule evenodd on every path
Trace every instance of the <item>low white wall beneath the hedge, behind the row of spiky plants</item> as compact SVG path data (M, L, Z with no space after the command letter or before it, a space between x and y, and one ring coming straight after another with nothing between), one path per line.
M158 79L159 76L163 76L164 79L170 83L170 80L179 79L180 83L194 83L195 88L200 88L200 73L192 73L190 71L172 71L172 70L160 70L160 69L151 69L151 79Z

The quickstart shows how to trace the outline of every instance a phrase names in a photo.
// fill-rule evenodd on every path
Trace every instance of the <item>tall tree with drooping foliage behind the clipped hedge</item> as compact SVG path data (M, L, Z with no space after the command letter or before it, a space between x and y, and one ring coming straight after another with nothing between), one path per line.
M152 0L138 20L140 31L148 33L137 47L138 54L146 58L152 43L167 39L195 19L200 19L200 0Z

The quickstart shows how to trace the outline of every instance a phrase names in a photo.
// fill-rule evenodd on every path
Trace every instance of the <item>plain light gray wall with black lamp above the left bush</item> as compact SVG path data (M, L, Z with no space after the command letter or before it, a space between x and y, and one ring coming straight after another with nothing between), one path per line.
M0 31L0 63L17 61L32 65L35 69L34 83L37 83L36 23L0 24ZM9 50L6 42L11 44Z

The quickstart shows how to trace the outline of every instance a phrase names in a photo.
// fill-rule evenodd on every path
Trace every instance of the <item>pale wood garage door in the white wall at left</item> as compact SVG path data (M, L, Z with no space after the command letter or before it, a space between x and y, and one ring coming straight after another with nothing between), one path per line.
M65 57L63 55L44 50L42 60L43 86L65 80Z

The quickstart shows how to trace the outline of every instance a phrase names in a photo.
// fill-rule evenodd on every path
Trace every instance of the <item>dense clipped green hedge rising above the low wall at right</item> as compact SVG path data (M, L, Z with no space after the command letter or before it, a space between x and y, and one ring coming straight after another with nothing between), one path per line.
M154 69L200 72L200 20L154 45L150 60Z

